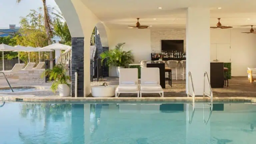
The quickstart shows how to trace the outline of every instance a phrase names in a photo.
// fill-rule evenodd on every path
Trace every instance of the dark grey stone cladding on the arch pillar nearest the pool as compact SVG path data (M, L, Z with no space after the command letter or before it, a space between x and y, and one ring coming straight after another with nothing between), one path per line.
M84 97L84 37L72 37L71 90L75 97L75 72L78 74L77 96Z

